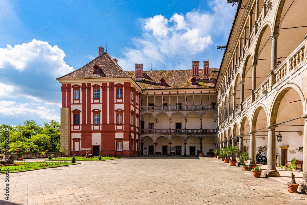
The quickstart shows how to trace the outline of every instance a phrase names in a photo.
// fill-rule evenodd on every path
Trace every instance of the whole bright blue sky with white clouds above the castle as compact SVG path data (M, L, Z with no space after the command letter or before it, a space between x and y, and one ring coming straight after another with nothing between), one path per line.
M0 2L0 124L60 120L55 80L91 61L98 46L126 70L219 67L235 14L226 0ZM107 48L106 48L107 44Z

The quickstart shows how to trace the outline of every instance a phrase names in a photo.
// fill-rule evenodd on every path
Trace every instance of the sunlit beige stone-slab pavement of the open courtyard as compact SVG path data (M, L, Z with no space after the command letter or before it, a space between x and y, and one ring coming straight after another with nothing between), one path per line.
M140 156L10 173L10 204L307 204L216 158ZM5 175L0 175L0 204Z

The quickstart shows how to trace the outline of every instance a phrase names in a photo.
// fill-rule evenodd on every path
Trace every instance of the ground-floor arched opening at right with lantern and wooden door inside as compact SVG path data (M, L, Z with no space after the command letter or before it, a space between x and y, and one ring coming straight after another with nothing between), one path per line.
M305 103L302 103L302 99L304 99L302 94L300 96L296 89L288 87L278 94L273 103L270 124L278 125L275 128L275 135L278 135L279 131L282 135L281 142L276 140L276 152L279 154L277 162L279 164L285 164L293 157L296 157L297 160L303 160L302 154L295 150L303 144L304 118L300 118L300 116L304 114L302 104Z

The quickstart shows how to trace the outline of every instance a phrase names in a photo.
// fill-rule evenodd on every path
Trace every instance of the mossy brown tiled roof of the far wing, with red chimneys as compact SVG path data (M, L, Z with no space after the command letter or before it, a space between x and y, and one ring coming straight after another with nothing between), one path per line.
M192 69L190 70L144 70L143 82L137 82L142 89L178 89L180 88L209 88L214 87L218 68L209 69L210 80L203 80L203 69L199 69L199 81L191 85ZM135 80L135 71L126 71ZM160 80L164 78L166 85L161 86Z

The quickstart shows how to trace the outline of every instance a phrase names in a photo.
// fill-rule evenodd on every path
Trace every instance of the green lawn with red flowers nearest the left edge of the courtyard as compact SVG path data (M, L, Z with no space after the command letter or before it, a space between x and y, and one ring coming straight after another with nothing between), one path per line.
M62 165L72 165L77 163L71 162L45 162L45 161L37 161L37 162L15 162L14 164L10 164L9 166L0 166L0 173L5 173L6 168L9 168L9 171L23 171L23 170L32 170L32 169L44 169L48 167L58 167Z

